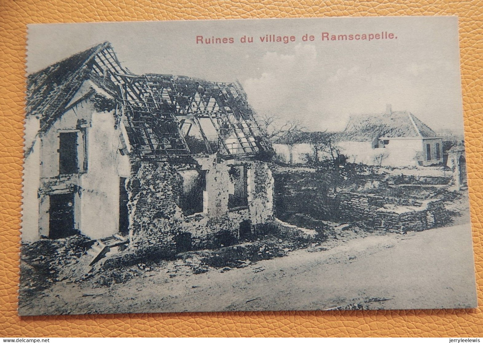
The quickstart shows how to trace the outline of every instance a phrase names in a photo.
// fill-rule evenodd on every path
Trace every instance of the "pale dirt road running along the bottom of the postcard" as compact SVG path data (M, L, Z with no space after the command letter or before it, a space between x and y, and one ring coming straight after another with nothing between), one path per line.
M152 270L125 284L59 282L22 309L37 314L476 306L468 225L369 235L302 249L242 269L176 276Z

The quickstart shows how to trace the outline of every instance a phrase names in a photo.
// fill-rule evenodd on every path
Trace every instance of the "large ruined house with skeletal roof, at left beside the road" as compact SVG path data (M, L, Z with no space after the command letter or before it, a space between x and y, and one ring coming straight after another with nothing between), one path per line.
M28 76L22 241L234 243L273 219L272 154L239 83L135 75L99 44Z

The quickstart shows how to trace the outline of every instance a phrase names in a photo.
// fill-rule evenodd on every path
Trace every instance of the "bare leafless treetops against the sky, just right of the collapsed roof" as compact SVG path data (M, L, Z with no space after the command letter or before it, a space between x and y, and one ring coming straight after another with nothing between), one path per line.
M260 114L257 120L261 129L266 132L267 138L272 142L280 137L293 138L307 129L299 119L283 122L274 114Z

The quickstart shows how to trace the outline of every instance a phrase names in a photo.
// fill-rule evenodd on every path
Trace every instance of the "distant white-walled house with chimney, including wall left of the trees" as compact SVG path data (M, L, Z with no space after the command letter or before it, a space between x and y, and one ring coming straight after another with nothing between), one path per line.
M313 136L304 132L297 140L282 137L273 144L276 158L286 163L306 163L314 158ZM352 163L413 167L443 162L442 137L409 111L352 115L342 132L332 135L340 154ZM318 154L318 159L325 158Z

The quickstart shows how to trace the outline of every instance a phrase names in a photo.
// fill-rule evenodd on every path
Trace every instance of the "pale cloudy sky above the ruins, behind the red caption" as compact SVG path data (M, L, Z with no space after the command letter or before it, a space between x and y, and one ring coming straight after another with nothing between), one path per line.
M322 41L322 32L397 39ZM302 42L304 34L313 42ZM267 34L296 42L261 43ZM196 36L233 44L197 44ZM242 36L254 43L240 43ZM112 43L134 73L239 80L260 114L299 119L312 130L343 129L350 114L409 110L431 128L461 129L456 17L366 17L165 21L28 26L27 71L97 43Z

